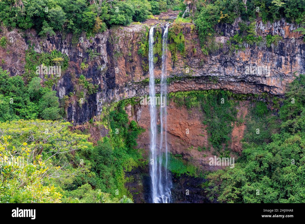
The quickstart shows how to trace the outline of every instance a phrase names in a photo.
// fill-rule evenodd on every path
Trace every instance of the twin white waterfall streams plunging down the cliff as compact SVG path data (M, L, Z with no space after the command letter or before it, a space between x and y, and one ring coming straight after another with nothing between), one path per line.
M171 202L171 180L167 174L167 24L164 27L162 42L162 70L160 77L160 101L163 100L165 107L160 107L160 135L159 147L157 148L157 112L156 104L149 104L150 112L150 176L152 180L152 202L153 203L170 203ZM155 77L154 77L154 27L149 30L149 99L156 102ZM165 150L164 150L165 149Z

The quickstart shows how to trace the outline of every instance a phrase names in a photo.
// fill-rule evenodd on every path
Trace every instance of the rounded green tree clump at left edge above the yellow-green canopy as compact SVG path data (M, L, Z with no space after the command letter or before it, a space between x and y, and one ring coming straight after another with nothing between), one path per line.
M41 79L34 77L28 86L21 76L9 77L7 71L0 68L0 121L16 119L60 119L59 99L56 91L41 87Z

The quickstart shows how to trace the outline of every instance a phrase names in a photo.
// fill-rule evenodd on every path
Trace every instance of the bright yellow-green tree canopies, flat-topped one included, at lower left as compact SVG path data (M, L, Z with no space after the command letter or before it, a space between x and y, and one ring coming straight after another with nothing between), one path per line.
M92 147L84 141L87 136L69 132L68 125L40 120L0 123L1 202L60 202L62 195L50 180L66 168L55 156Z

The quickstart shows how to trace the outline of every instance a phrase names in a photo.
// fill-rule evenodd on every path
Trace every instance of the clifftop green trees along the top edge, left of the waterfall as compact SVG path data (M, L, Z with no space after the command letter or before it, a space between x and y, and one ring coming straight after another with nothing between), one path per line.
M178 1L180 2L180 1ZM39 35L54 35L55 31L75 34L103 32L113 25L127 26L132 21L143 22L149 15L160 14L175 1L105 1L91 3L86 0L28 0L11 4L0 1L0 21L5 27L35 28Z

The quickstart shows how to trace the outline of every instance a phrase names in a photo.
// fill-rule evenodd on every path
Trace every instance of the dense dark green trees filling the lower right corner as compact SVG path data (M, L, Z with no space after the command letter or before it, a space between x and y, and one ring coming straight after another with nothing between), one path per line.
M304 197L304 82L300 76L290 85L280 108L280 133L259 145L249 139L234 169L208 175L213 200L246 203L303 203ZM292 97L293 96L293 97ZM291 98L295 98L292 101ZM255 113L265 114L262 105Z

